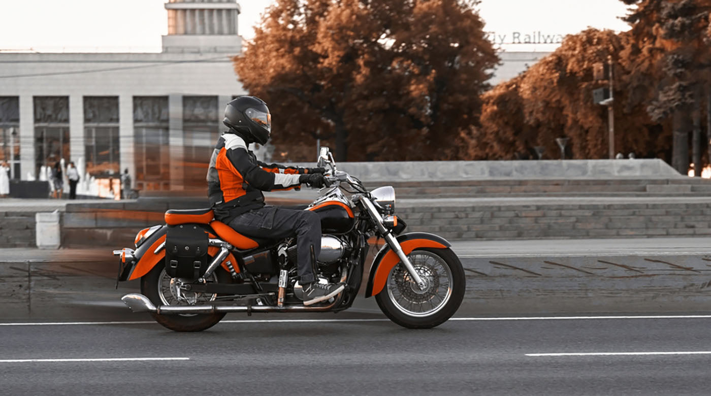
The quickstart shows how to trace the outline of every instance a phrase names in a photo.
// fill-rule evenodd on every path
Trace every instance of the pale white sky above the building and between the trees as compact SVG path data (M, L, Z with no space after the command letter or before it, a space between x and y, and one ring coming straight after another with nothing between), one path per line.
M166 0L0 0L0 50L39 52L160 52L168 31ZM246 39L274 0L238 0ZM504 50L555 49L553 40L592 26L627 30L619 0L482 0L486 31ZM540 33L538 33L540 32ZM518 33L518 34L517 34ZM526 35L529 41L524 43Z

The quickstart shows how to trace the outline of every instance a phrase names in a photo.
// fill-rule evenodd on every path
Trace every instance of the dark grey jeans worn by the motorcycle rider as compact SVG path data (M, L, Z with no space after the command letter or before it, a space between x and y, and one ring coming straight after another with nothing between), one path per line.
M321 252L321 218L310 210L264 206L237 216L228 223L248 237L282 239L296 236L296 269L301 284L314 282L315 257ZM311 258L314 250L314 259Z

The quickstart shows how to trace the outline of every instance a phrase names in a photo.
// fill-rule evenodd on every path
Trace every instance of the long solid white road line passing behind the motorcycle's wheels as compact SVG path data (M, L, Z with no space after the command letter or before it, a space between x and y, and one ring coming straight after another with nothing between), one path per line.
M711 319L711 315L638 315L638 316L510 316L494 318L450 318L450 321L562 321L602 319ZM387 322L390 319L245 319L220 321L220 323L348 323ZM20 322L0 323L0 326L82 326L82 325L157 324L154 321L106 321L106 322Z

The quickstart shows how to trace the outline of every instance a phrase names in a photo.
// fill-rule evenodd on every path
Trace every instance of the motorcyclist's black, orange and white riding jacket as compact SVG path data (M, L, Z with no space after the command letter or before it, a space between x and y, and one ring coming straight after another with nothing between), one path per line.
M225 133L213 150L208 169L208 196L215 219L223 223L264 206L262 191L299 187L304 168L257 161L245 140Z

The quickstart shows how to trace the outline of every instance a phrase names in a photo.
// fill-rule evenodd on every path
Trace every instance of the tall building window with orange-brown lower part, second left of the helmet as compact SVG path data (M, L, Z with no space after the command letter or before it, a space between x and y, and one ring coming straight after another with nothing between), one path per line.
M168 97L134 97L136 187L170 189Z

